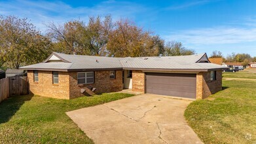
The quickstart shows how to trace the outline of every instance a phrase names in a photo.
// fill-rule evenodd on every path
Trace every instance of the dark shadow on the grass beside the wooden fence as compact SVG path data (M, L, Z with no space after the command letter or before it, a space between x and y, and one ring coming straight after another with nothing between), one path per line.
M25 101L29 101L33 95L10 96L0 103L0 124L8 122L20 109Z

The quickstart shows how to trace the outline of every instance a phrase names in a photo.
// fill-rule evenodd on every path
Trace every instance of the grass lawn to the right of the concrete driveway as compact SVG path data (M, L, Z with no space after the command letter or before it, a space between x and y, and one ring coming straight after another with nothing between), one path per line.
M185 111L187 122L204 143L256 143L256 81L223 81L223 86L193 101Z

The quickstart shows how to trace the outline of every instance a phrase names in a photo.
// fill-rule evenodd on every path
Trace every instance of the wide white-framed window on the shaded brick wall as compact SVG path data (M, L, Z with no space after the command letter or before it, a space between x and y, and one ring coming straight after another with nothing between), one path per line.
M81 72L77 73L78 84L92 84L94 83L94 72Z

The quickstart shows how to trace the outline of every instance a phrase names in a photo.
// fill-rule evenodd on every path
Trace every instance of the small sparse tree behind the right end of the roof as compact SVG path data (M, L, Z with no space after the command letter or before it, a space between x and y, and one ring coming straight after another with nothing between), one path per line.
M165 46L165 56L185 56L194 54L194 50L185 48L181 42L170 41Z

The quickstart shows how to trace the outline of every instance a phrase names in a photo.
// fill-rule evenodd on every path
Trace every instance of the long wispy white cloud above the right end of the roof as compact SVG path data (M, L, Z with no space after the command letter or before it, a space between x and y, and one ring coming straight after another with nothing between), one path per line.
M256 27L211 27L176 31L164 36L194 45L232 44L256 41Z

